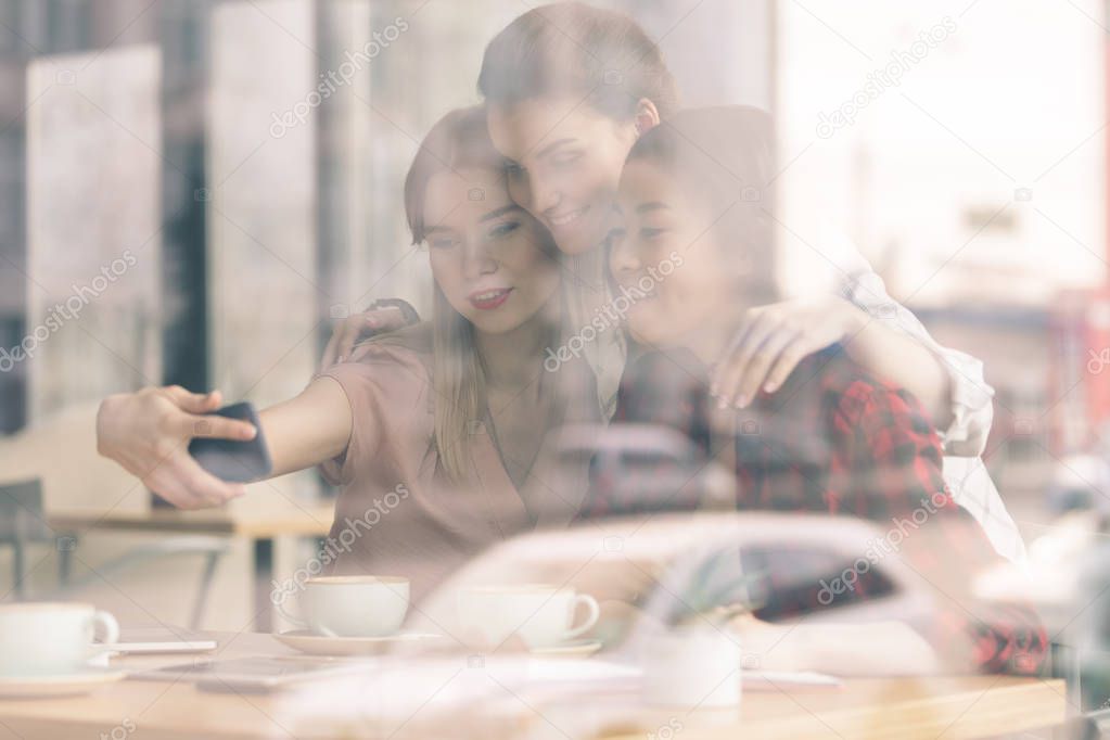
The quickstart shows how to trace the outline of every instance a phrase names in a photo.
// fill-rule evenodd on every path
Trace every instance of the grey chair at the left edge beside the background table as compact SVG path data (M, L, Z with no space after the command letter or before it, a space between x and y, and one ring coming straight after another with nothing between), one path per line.
M70 598L80 590L101 579L109 579L137 565L184 556L201 556L204 566L201 570L200 589L193 604L189 627L198 629L204 615L212 578L220 558L228 553L230 545L220 537L181 536L170 537L158 543L140 545L123 555L92 570L92 574L78 580L70 578L73 549L77 538L71 533L56 531L46 519L42 506L42 481L38 478L14 484L0 485L0 546L7 545L12 550L12 589L16 600L27 598L26 578L27 548L31 544L50 543L59 553L59 588L50 592L49 598ZM33 570L33 568L32 568ZM0 595L0 599L7 595Z

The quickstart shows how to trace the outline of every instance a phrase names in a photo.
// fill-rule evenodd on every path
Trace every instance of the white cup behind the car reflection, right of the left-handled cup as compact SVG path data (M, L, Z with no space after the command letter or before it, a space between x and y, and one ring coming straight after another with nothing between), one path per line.
M585 621L574 626L578 605L587 610ZM573 588L532 584L478 586L458 594L458 617L464 633L497 647L519 636L528 648L554 647L597 624L597 600Z

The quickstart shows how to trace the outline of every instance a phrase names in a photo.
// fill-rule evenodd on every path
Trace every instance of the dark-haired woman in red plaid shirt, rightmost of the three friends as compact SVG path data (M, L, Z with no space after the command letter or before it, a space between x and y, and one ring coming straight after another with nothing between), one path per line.
M879 650L901 656L895 672L1040 670L1047 636L1037 616L1021 606L983 605L969 594L970 576L998 556L945 486L940 439L928 414L910 393L869 375L844 349L869 331L867 316L844 343L805 358L779 356L788 351L764 339L760 352L793 372L747 408L714 407L712 363L734 341L745 312L775 297L771 151L768 118L747 108L678 113L632 149L607 246L614 292L625 296L640 352L625 371L614 423L685 430L707 458L735 469L739 509L848 515L889 528L882 540L897 539L897 556L936 605L930 624L916 631L894 621L811 631L769 624L890 594L890 582L869 565L889 547L847 568L840 560L817 564L828 578L800 588L791 574L804 558L810 559L806 570L814 568L814 551L747 554L759 560L763 578L755 589L759 608L736 622L749 642L825 650L824 662L807 655L800 663L796 650L790 667L835 669L828 662ZM737 234L744 235L739 242ZM771 336L786 342L789 335L787 327ZM582 516L698 505L684 498L689 486L653 501L618 499L616 490L595 480ZM809 635L835 635L837 645L816 648L828 640Z

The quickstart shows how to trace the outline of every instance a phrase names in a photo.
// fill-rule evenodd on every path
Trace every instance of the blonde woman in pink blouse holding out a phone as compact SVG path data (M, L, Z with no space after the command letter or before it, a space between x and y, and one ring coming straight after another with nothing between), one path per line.
M435 280L431 324L355 347L260 422L272 475L322 464L343 486L332 538L351 546L332 571L405 575L418 598L486 545L574 516L584 475L561 485L555 470L538 473L541 452L551 429L597 414L575 403L593 397L588 371L543 369L561 318L558 253L508 197L481 109L432 129L405 206ZM185 453L196 414L212 405L180 388L112 396L98 419L100 450L178 506L219 503L241 488Z

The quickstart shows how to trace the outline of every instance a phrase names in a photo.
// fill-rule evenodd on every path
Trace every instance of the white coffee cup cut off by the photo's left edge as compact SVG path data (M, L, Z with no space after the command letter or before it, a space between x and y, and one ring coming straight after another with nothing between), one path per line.
M0 606L0 676L61 676L89 666L117 642L120 626L90 604L22 602Z

